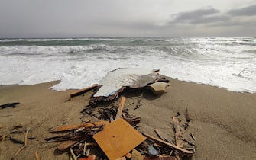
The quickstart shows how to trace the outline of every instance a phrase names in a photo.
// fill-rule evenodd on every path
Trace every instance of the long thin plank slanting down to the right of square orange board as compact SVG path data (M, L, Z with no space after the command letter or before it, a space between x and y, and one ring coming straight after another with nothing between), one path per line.
M183 149L183 148L180 148L178 146L175 146L175 145L171 144L170 142L165 142L164 140L157 139L154 136L150 136L150 135L148 135L146 133L143 133L143 135L146 136L149 139L154 140L154 142L156 142L157 144L170 147L171 149L174 149L174 150L176 150L178 152L181 152L181 153L183 153L185 155L188 155L188 156L192 156L193 155L193 152L190 152L190 151L188 151L186 149Z

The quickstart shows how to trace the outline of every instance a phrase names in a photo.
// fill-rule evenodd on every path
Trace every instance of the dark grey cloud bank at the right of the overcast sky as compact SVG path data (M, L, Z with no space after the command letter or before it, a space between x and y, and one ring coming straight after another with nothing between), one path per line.
M231 9L227 12L221 12L215 8L199 8L194 11L180 12L172 14L171 20L167 22L169 25L203 25L207 27L216 26L238 26L254 25L255 18L251 16L256 15L256 5L251 5L245 8ZM245 18L237 18L237 16L244 16ZM250 18L248 18L250 17ZM254 23L255 22L255 23Z

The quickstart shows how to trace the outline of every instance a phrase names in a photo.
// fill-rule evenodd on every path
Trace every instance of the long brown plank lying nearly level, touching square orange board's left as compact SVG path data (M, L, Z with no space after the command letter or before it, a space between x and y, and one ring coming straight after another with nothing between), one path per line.
M50 133L57 133L57 132L63 132L63 131L69 131L69 130L76 130L82 127L92 127L92 126L102 126L105 124L108 124L108 121L99 121L99 122L93 122L93 123L81 123L81 124L73 124L68 126L57 126L55 128L49 129Z

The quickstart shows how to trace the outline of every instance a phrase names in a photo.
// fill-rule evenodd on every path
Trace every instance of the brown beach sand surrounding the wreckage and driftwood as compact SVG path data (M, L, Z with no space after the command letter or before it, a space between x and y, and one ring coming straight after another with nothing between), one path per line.
M0 104L20 102L15 108L0 110L0 134L8 135L14 125L21 125L23 133L14 134L24 139L24 130L30 127L28 146L17 159L68 159L66 152L57 152L60 142L46 142L54 136L48 132L53 126L81 123L80 111L88 104L92 92L66 101L71 91L52 91L47 88L57 84L0 86ZM173 140L172 117L180 112L181 124L185 122L188 108L191 122L186 133L196 138L196 153L193 159L256 159L256 94L237 93L181 82L170 78L170 87L165 94L155 97L150 91L125 94L131 114L142 118L140 131L154 135L154 129L167 139ZM137 110L134 107L141 104ZM0 159L11 159L22 145L10 140L0 142Z

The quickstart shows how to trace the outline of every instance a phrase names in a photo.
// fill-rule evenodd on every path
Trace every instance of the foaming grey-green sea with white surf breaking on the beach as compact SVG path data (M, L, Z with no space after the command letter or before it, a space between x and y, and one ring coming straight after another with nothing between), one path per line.
M256 93L256 37L0 39L0 85L86 88L118 68Z

